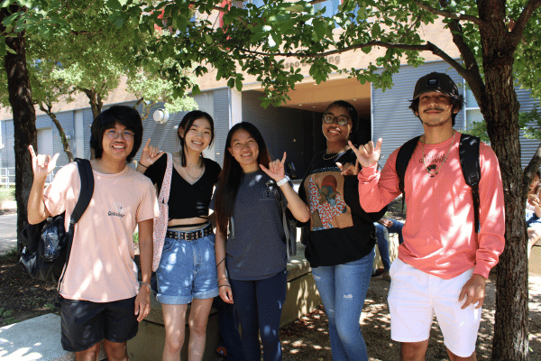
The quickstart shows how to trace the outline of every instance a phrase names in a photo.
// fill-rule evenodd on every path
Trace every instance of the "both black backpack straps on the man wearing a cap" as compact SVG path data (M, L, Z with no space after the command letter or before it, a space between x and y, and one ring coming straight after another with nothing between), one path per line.
M411 155L417 146L417 142L421 136L416 136L413 139L408 140L399 149L397 154L396 171L399 176L399 189L404 195L404 176L406 174L406 168L408 168ZM472 188L473 199L473 211L475 217L475 233L479 233L479 180L481 180L481 165L479 163L479 144L480 139L478 136L462 134L460 136L460 145L458 147L458 153L460 156L460 166L463 171L464 180L466 184ZM405 197L402 197L402 206L404 204Z

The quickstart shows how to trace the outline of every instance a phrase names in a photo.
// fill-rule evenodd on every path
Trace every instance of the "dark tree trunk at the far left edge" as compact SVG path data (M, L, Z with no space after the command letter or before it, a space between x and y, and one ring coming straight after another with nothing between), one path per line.
M9 14L23 11L18 5L11 5L0 11L0 23ZM2 31L4 26L0 25ZM15 199L17 201L17 234L20 234L27 223L26 204L32 188L32 161L28 145L36 146L36 113L32 103L32 91L26 69L26 51L24 49L24 32L16 37L6 37L6 45L15 51L7 53L4 60L7 73L7 90L9 103L14 116L14 153L15 153ZM17 247L22 250L21 238L17 236Z

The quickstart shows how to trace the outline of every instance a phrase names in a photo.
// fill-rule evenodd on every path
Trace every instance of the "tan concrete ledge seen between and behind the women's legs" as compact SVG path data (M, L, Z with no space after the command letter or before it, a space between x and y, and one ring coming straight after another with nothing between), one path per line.
M300 232L298 232L300 233ZM311 275L310 264L304 258L304 245L297 243L298 252L288 264L288 293L282 309L280 327L299 319L321 304L316 283ZM189 305L187 319L189 315ZM186 338L180 359L188 359L189 329L186 325ZM215 361L222 358L215 353L218 346L219 329L216 310L211 310L206 326L206 348L203 360ZM160 360L165 343L163 314L160 302L151 296L151 314L139 325L137 336L128 341L128 353L131 361Z

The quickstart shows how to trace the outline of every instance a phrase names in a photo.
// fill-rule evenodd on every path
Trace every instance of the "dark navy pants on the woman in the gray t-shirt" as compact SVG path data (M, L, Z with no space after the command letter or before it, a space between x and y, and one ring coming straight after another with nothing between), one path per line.
M244 360L261 360L261 337L263 360L280 361L280 317L288 291L288 272L284 270L264 280L231 280L231 288L243 330Z

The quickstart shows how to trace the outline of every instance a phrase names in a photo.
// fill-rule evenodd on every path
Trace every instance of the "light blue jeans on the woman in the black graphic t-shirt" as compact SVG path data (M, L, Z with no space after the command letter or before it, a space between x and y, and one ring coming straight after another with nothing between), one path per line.
M375 251L360 260L312 269L329 320L334 361L368 361L360 319Z

